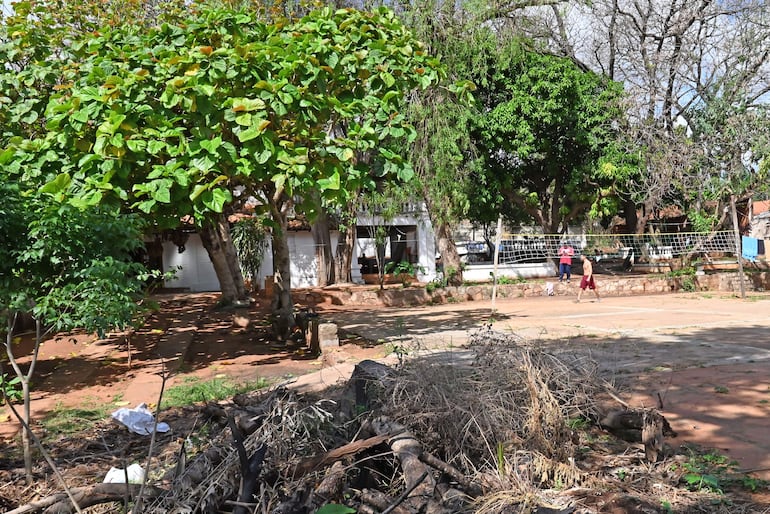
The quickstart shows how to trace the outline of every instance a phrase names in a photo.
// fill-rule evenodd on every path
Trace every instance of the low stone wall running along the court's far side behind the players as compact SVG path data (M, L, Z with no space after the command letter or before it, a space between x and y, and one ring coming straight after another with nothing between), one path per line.
M770 272L744 274L747 292L770 289ZM559 283L555 278L533 279L516 284L497 286L498 298L526 298L543 296L546 283L553 284L556 296L577 296L580 277L575 276L570 284ZM663 294L677 291L720 291L740 292L738 273L724 272L706 275L688 275L669 278L664 275L613 276L596 275L596 284L602 296L630 296L635 294ZM362 286L327 288L323 290L298 290L298 301L322 302L330 299L335 305L368 305L388 307L409 307L425 304L491 300L491 284L445 287L428 293L424 285L390 287L382 291Z

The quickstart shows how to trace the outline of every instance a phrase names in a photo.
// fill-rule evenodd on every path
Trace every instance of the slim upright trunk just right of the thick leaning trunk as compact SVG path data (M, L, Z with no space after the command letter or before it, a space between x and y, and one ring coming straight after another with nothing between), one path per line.
M273 332L279 340L286 340L294 327L294 302L291 298L291 256L287 240L286 213L275 201L270 201L275 222L272 230L273 247Z

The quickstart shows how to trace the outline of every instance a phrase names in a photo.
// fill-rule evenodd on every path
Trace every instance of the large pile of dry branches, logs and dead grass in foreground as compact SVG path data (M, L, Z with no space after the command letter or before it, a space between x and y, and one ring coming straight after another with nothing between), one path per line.
M279 388L208 405L220 428L208 448L180 452L152 484L114 486L113 498L102 488L100 498L158 514L589 513L600 511L597 497L658 512L664 495L689 501L658 453L651 461L624 443L620 455L601 454L587 437L609 418L640 438L654 427L657 449L667 435L654 411L608 418L597 369L577 353L484 329L468 349L421 353L397 369L364 361L324 397ZM619 466L645 472L621 484ZM60 500L17 510L77 511Z

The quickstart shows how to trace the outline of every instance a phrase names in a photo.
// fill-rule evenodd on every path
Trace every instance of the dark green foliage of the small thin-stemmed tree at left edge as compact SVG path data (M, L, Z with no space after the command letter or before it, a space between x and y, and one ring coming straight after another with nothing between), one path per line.
M14 177L6 180L14 183ZM31 312L53 331L103 335L129 326L143 308L138 301L147 278L143 265L132 261L142 246L141 222L20 191L0 223L0 232L13 232L0 250L0 312Z

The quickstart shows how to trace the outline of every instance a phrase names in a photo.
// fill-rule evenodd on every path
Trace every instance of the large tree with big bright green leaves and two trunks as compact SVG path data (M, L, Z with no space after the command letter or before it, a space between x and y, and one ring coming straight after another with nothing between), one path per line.
M157 29L105 28L70 51L48 132L18 159L80 207L193 218L226 300L244 293L224 216L234 188L253 193L275 222L273 310L287 320L289 209L312 212L310 192L343 203L377 178L409 178L394 149L414 138L403 96L441 74L387 10L265 24L250 11L193 9ZM361 152L376 155L379 177Z

